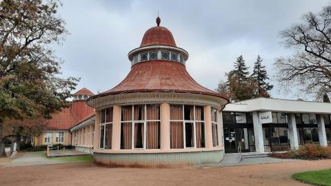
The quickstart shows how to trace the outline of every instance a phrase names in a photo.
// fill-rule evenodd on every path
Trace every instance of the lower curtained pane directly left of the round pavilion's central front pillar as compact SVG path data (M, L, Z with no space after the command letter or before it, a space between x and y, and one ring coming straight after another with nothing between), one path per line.
M146 123L146 148L159 149L160 148L160 122L148 121Z

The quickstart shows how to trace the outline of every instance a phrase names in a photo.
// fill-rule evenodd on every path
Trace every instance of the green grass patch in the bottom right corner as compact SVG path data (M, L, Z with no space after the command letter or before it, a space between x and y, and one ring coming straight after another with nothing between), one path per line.
M293 174L294 180L299 180L303 183L309 183L312 185L327 185L331 186L331 169L301 172Z

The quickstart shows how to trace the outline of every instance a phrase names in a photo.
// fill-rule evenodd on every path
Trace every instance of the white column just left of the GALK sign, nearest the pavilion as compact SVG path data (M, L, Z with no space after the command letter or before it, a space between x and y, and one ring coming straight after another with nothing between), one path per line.
M259 113L253 112L253 125L254 125L254 138L255 138L255 148L257 153L264 152L264 143L263 143L263 129L262 124L259 120Z

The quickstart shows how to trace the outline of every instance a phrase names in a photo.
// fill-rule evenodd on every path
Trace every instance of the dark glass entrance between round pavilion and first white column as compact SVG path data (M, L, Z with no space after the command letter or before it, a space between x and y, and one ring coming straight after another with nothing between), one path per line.
M254 131L252 128L224 128L225 153L237 153L238 147L241 152L254 152Z

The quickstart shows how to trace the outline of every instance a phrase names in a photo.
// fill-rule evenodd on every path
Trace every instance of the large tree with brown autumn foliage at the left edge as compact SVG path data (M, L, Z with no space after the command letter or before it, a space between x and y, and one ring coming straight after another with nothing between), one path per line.
M50 118L68 105L76 86L77 79L59 78L61 61L50 48L67 33L59 6L57 0L0 1L0 156L3 121Z

